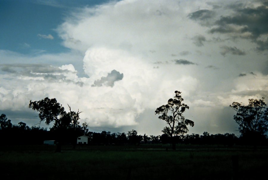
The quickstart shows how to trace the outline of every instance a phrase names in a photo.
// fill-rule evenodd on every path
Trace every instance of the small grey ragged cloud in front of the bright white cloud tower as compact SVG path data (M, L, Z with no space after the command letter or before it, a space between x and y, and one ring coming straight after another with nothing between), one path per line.
M114 69L113 71L108 73L108 75L106 77L101 77L101 79L94 81L94 85L91 85L91 86L92 87L95 87L95 86L100 87L102 85L105 85L105 86L113 87L114 82L122 80L123 77L124 77L123 73L120 74L120 72L118 72Z

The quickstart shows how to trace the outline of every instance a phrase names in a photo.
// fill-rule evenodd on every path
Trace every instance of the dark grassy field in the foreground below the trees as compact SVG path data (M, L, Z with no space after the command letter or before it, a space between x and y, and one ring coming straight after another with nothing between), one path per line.
M167 149L168 148L168 149ZM268 147L0 146L0 179L264 179Z

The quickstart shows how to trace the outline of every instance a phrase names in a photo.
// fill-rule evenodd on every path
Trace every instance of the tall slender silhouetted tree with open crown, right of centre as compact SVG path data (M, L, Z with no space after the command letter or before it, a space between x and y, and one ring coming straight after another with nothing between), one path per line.
M194 126L193 121L185 119L183 116L183 112L189 109L189 106L183 103L180 93L179 91L175 91L174 99L170 98L166 105L162 105L155 110L155 114L160 114L158 118L166 121L169 125L162 132L168 134L171 138L172 149L176 149L176 140L173 136L187 133L187 125Z

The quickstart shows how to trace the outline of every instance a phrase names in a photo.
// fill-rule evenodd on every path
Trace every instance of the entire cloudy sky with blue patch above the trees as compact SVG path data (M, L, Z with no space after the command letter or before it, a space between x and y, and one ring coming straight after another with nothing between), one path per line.
M0 0L0 114L35 125L49 97L90 131L161 135L178 90L189 134L239 135L229 105L268 103L267 19L265 0Z

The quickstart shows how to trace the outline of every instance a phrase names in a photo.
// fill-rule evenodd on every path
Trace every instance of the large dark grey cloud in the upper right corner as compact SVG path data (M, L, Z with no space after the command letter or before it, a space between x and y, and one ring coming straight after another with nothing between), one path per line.
M256 8L244 7L243 4L228 6L235 12L232 16L221 16L215 22L216 27L210 33L230 33L230 36L251 39L258 47L257 50L268 50L268 39L258 39L268 33L268 8L264 5Z

